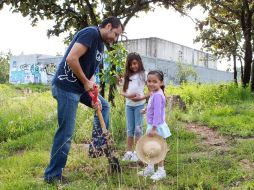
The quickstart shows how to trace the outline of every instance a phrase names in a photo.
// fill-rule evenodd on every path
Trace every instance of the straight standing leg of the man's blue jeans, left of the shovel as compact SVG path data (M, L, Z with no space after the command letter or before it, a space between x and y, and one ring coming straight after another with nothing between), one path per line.
M58 129L53 140L50 163L44 173L44 178L48 181L61 176L66 165L81 96L56 85L52 86L52 95L57 100Z

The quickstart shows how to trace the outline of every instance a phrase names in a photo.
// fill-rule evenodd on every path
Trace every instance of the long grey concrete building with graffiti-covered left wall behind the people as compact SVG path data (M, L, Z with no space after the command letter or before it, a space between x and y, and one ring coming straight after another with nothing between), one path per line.
M191 66L196 71L197 82L218 83L233 80L233 74L217 70L217 62L211 54L159 38L142 38L123 41L128 52L141 55L145 69L160 69L166 84L177 84L177 62ZM62 56L19 55L10 60L10 83L50 84ZM97 78L98 80L98 78ZM192 80L192 79L190 79Z

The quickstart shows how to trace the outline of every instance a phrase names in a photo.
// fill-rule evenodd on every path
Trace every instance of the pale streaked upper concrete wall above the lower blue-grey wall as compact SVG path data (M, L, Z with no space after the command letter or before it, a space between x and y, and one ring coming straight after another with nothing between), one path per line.
M217 69L216 59L211 54L163 39L143 38L123 41L123 43L129 52L138 52L143 56Z

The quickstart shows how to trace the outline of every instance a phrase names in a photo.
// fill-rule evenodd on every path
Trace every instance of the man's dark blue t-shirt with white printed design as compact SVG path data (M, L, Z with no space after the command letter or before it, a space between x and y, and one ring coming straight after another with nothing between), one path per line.
M74 36L58 66L52 84L69 92L83 93L85 91L84 85L66 62L66 58L74 43L80 43L88 47L87 52L79 58L81 68L88 79L94 75L97 66L102 61L104 44L98 27L84 28Z

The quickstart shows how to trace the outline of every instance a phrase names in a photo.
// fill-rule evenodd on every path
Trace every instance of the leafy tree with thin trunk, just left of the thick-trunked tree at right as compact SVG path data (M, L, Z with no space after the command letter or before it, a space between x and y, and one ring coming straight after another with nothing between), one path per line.
M221 9L212 9L208 17L198 22L199 35L196 42L202 42L203 48L212 52L218 58L233 58L234 82L237 84L236 60L242 59L241 30L235 19L228 18L227 12ZM242 73L243 75L243 73ZM241 77L242 78L242 77Z

